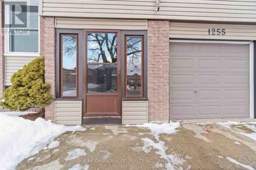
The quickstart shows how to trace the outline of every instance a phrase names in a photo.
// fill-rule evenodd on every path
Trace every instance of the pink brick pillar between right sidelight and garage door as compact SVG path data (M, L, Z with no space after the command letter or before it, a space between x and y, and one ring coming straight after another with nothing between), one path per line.
M169 21L148 20L148 118L169 122Z

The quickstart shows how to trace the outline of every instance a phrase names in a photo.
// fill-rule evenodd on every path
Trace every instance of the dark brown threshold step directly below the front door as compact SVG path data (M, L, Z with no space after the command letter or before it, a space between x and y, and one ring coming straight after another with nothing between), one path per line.
M121 116L108 117L83 117L83 125L120 125L122 124Z

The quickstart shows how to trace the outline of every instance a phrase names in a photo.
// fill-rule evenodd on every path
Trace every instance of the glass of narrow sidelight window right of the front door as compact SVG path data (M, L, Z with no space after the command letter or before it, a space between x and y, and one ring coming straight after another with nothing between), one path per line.
M126 36L126 96L142 97L142 36Z

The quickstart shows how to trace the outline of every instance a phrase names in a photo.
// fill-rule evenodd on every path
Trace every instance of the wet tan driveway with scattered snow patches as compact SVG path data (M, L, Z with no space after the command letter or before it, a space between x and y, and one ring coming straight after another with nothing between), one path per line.
M84 127L58 136L16 169L256 169L255 119L183 120L172 134Z

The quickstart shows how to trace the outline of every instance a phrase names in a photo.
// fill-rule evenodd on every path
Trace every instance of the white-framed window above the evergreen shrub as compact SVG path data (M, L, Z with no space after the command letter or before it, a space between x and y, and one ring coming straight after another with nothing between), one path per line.
M6 53L39 53L38 4L5 4Z

